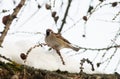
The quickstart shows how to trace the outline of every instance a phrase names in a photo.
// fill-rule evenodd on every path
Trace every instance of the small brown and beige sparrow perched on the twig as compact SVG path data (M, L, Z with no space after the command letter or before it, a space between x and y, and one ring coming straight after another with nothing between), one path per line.
M45 42L48 46L59 51L63 48L70 48L74 51L79 51L80 48L72 46L72 44L63 38L60 34L54 33L51 29L46 30Z

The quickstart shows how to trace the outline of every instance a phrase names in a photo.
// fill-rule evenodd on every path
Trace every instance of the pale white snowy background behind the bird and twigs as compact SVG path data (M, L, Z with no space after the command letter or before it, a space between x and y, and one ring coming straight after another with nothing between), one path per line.
M0 31L4 29L2 24L2 17L13 12L13 8L19 3L20 0L0 0ZM91 1L91 0L90 0ZM73 0L70 11L67 17L66 24L62 30L62 36L69 40L72 44L86 48L104 48L111 45L115 38L116 33L119 31L120 23L117 21L111 22L114 14L120 10L120 6L116 8L105 6L102 9L97 10L89 19L86 25L82 17L86 15L90 1L86 0ZM116 0L109 0L106 3L114 2ZM117 0L119 1L119 0ZM52 2L52 1L51 1ZM24 64L24 61L20 58L21 53L26 53L30 47L38 43L45 43L45 31L48 28L57 32L61 25L61 20L64 16L64 12L67 6L67 0L63 1L63 6L60 7L60 0L56 0L55 7L52 11L56 11L59 16L57 24L51 17L51 11L46 10L45 4L50 3L49 0L27 0L26 4L18 14L17 18L13 21L9 33L3 42L3 48L0 48L0 54L11 58L17 63ZM93 0L91 5L95 6L99 1ZM38 9L38 4L41 8ZM52 3L51 3L52 4ZM59 5L58 5L59 4ZM9 10L6 13L2 13L2 10ZM108 22L106 22L106 21ZM117 19L120 21L120 19ZM86 34L86 37L82 37ZM116 44L120 44L120 38L117 37ZM87 63L84 64L84 71L87 73L120 73L120 49L117 50L114 57L106 66L107 62L103 63L99 68L96 67L96 63L105 61L113 54L115 49L110 49L104 58L102 55L106 51L85 51L80 50L74 52L71 49L62 49L61 54L66 65L62 65L62 62L58 54L54 51L48 51L49 47L37 47L33 49L25 64L33 66L35 68L47 69L47 70L66 70L69 72L79 72L80 60L83 58L89 58L94 65L95 71L91 71L91 66ZM97 55L97 58L96 58ZM117 70L115 68L118 66Z

